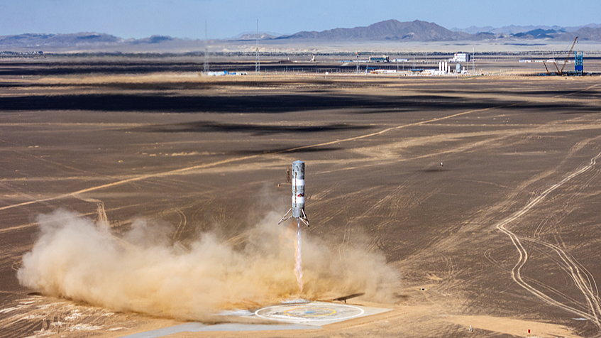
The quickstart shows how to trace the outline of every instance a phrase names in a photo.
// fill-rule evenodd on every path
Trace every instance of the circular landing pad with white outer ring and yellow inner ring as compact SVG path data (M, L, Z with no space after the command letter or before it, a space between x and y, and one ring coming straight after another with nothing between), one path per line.
M353 305L331 302L310 302L307 304L284 304L264 307L255 311L257 317L282 322L326 324L350 320L363 315L365 310Z

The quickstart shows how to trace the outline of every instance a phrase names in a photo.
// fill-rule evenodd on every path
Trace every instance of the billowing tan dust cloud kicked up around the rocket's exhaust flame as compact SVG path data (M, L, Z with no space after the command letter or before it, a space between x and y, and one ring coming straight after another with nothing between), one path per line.
M183 320L357 292L392 302L399 276L381 253L349 245L341 251L307 234L301 293L294 276L296 229L277 226L279 219L272 212L246 231L243 248L213 233L182 246L172 243L170 229L143 219L116 236L105 224L60 209L38 216L40 235L17 277L44 295Z

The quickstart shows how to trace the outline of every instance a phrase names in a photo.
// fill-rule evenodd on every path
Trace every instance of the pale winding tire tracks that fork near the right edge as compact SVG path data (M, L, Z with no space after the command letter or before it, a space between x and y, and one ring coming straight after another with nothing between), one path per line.
M572 312L576 315L584 317L584 318L590 320L591 322L593 322L597 326L598 329L601 329L601 323L599 320L599 317L601 316L601 306L600 306L600 300L598 297L598 291L596 290L597 289L596 283L594 280L591 283L589 276L582 276L582 274L580 273L579 264L577 262L575 262L575 260L570 259L570 257L571 257L570 254L566 253L566 251L561 249L559 246L553 246L552 244L544 243L541 240L535 240L537 243L548 246L551 249L553 249L554 251L556 251L556 253L561 257L562 261L564 261L566 263L566 265L569 266L568 270L570 271L570 275L572 276L572 278L574 280L575 286L583 293L583 295L586 299L586 302L588 303L588 307L589 307L588 312L584 312L582 310L576 309L575 307L570 307L561 302L558 302L557 300L554 300L553 298L549 297L545 293L542 293L541 291L537 290L532 285L530 285L529 283L526 283L524 281L524 279L522 278L521 271L522 271L522 267L524 267L524 265L526 264L526 261L528 261L528 251L526 251L526 249L522 245L522 241L520 241L521 237L517 236L512 231L509 231L509 229L507 229L507 227L506 227L508 224L514 222L519 217L522 217L522 216L524 216L524 214L528 213L532 208L534 208L542 200L544 200L547 195L549 195L551 192L553 192L553 190L556 190L558 187L561 187L566 182L568 182L568 181L572 180L573 178L577 177L578 175L590 170L592 167L595 166L595 164L597 163L597 159L599 159L599 158L601 158L601 153L599 153L599 154L597 154L597 156L591 158L590 163L588 165L585 165L583 168L580 168L579 170L576 170L575 172L573 172L570 175L563 178L563 180L557 182L554 185L551 185L551 187L548 187L544 192L541 193L541 195L536 197L534 200L531 200L531 202L529 202L525 207L523 207L518 212L512 214L512 216L508 217L507 219L502 220L500 223L498 223L496 225L496 227L497 227L497 229L502 231L504 234L509 236L509 239L512 240L512 243L515 246L515 248L517 249L517 252L519 254L519 259L511 271L512 279L519 286L521 286L522 288L529 291L532 295L536 296L536 298L539 298L543 302L546 302L548 305L560 307L563 310L566 310L568 312ZM524 238L522 238L522 239L524 239ZM531 240L531 239L524 239L524 240ZM595 290L593 290L593 288L595 288ZM595 294L595 291L597 291L597 294Z

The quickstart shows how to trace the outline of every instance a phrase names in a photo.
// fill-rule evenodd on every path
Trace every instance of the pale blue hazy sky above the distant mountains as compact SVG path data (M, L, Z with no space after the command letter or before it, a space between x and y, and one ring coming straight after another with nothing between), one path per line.
M599 0L0 0L0 36L21 33L109 33L230 38L368 26L388 20L468 26L581 26L600 21ZM597 22L599 23L599 22Z

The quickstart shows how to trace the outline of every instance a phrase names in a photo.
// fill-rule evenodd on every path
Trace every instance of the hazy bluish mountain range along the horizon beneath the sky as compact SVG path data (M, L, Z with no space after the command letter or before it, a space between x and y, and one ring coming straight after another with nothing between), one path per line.
M601 41L601 25L590 23L586 26L505 26L453 28L448 30L436 23L426 21L400 22L387 20L373 23L367 27L334 28L327 31L302 31L279 36L277 33L260 33L259 39L264 43L272 40L286 41L485 41L485 40L573 40L576 36L581 41ZM235 43L257 39L256 33L242 33L235 38L221 40L221 43ZM123 39L104 33L74 34L21 34L17 36L0 36L0 51L12 49L28 50L139 50L162 48L170 50L175 45L198 46L202 40L187 40L170 36L151 36L141 39ZM197 47L196 47L197 49Z

